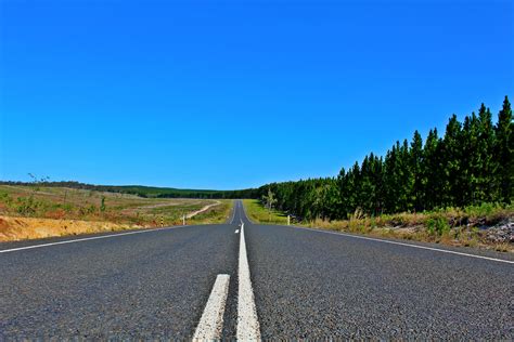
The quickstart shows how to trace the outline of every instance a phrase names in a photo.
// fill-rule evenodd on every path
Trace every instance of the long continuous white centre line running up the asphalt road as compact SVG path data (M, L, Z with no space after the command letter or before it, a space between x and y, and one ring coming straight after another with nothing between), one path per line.
M244 239L244 224L240 234L240 267L239 267L239 294L237 294L237 331L240 341L260 340L259 320L255 308L254 291L249 278L248 259Z

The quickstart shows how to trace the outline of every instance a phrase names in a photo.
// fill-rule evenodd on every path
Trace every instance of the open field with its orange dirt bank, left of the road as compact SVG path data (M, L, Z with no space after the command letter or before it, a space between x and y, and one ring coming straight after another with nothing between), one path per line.
M0 185L0 240L177 225L195 212L188 224L219 223L231 208L232 200L226 199L142 198L40 183ZM73 233L69 227L75 227Z

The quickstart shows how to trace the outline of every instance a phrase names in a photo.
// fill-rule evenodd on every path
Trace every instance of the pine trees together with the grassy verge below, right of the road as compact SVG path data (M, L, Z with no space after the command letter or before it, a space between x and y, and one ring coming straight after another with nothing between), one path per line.
M384 157L373 153L335 177L271 183L264 207L304 225L452 245L514 246L513 117L505 96L496 122L484 104L445 133L415 131ZM252 210L249 210L252 211Z

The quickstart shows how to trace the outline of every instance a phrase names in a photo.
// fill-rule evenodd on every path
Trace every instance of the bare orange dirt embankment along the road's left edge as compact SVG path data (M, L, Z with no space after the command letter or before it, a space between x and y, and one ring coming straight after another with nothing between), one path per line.
M111 222L11 218L0 215L0 241L115 232L129 228L137 228L137 226Z

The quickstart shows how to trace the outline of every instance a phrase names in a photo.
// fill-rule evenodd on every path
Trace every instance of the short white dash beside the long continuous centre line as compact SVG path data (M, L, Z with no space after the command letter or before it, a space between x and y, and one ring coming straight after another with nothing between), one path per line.
M205 305L202 318L193 336L193 341L218 341L223 329L223 313L229 293L230 276L219 274Z

